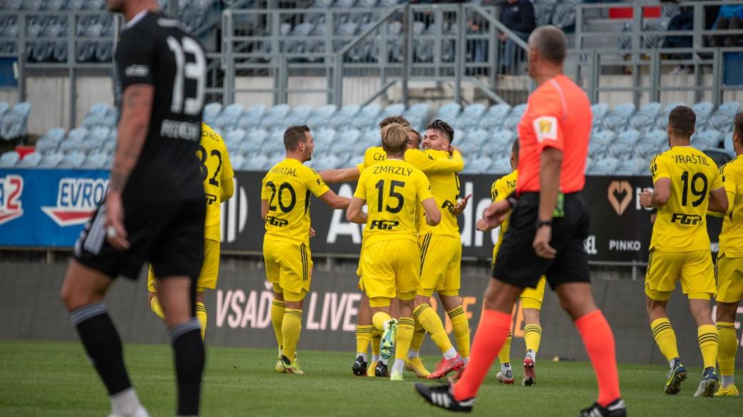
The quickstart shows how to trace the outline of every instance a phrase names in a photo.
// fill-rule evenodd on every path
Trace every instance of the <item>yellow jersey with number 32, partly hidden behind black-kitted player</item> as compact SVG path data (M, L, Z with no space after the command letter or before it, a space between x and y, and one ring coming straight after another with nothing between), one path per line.
M206 124L201 125L201 143L196 150L196 157L201 164L201 179L204 181L204 193L207 194L204 238L219 241L222 189L225 181L232 181L235 172L224 140Z

